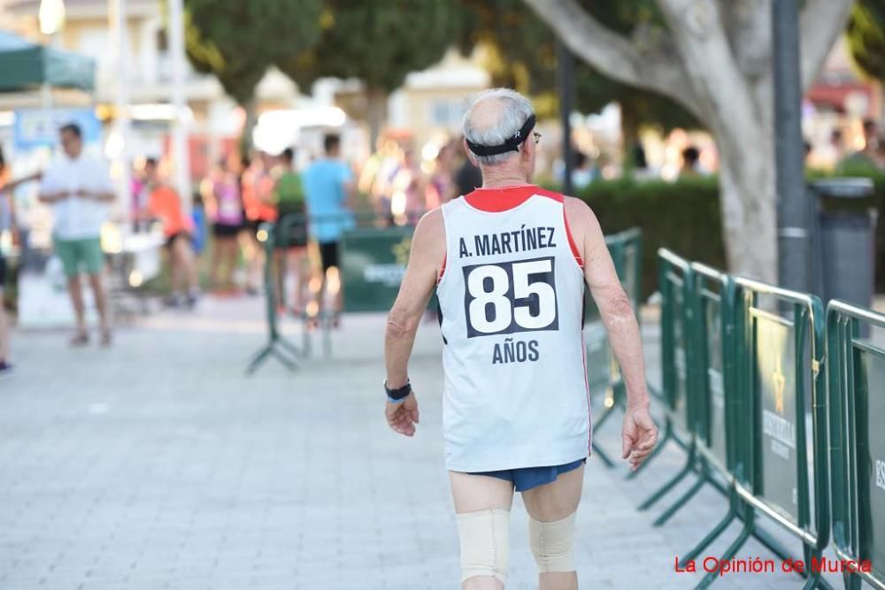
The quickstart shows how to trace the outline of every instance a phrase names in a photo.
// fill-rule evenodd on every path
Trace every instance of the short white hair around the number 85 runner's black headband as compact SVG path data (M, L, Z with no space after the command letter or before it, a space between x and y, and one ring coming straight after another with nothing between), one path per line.
M481 103L494 101L500 108L494 111L494 116L489 117L487 111L483 111L481 117L476 117L476 109ZM462 123L463 134L468 142L479 145L501 145L510 139L519 129L526 124L529 117L535 114L532 103L511 88L492 88L484 90L468 99L467 111L464 113ZM476 120L481 119L481 120ZM509 160L516 152L508 151L494 156L477 156L473 154L481 165L493 166Z

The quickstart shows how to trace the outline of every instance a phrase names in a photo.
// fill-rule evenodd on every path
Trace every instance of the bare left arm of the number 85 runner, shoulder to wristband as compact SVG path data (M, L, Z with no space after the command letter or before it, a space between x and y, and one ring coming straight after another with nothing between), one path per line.
M384 333L384 360L391 388L401 387L408 379L409 356L412 355L415 333L433 294L443 257L445 228L443 213L437 209L427 213L415 227L409 265L388 317Z

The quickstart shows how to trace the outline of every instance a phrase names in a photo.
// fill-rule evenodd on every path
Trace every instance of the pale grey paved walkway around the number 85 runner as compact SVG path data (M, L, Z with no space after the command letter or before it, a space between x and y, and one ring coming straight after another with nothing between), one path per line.
M405 439L381 416L383 318L346 317L332 360L295 374L272 360L247 378L260 318L258 300L207 299L196 314L120 329L110 350L13 334L18 374L0 381L0 588L458 587L435 324L419 333L423 419ZM654 334L648 344L657 358ZM612 423L598 437L615 449L619 434ZM720 495L701 494L666 529L635 510L680 461L670 452L627 483L591 460L582 588L696 583L673 558L724 513ZM742 555L768 556L753 544ZM519 498L511 563L508 588L536 587ZM797 586L786 574L716 585Z

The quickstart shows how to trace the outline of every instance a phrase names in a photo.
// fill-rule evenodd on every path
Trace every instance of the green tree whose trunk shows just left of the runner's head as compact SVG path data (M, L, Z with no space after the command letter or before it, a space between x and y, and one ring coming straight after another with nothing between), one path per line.
M303 88L324 76L361 80L374 143L389 94L403 85L407 73L434 65L449 48L458 30L458 6L455 0L326 0L323 4L319 43L275 63Z

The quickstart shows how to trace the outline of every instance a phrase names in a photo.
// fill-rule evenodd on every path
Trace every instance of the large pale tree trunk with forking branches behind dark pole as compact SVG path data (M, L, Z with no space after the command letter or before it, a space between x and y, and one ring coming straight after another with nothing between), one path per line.
M768 0L654 0L629 32L606 24L589 0L525 0L574 54L614 80L673 99L716 138L728 264L777 279L772 99L772 10ZM599 3L602 4L602 0ZM632 2L618 4L627 10ZM646 3L643 3L646 4ZM804 0L799 78L817 77L852 0Z

